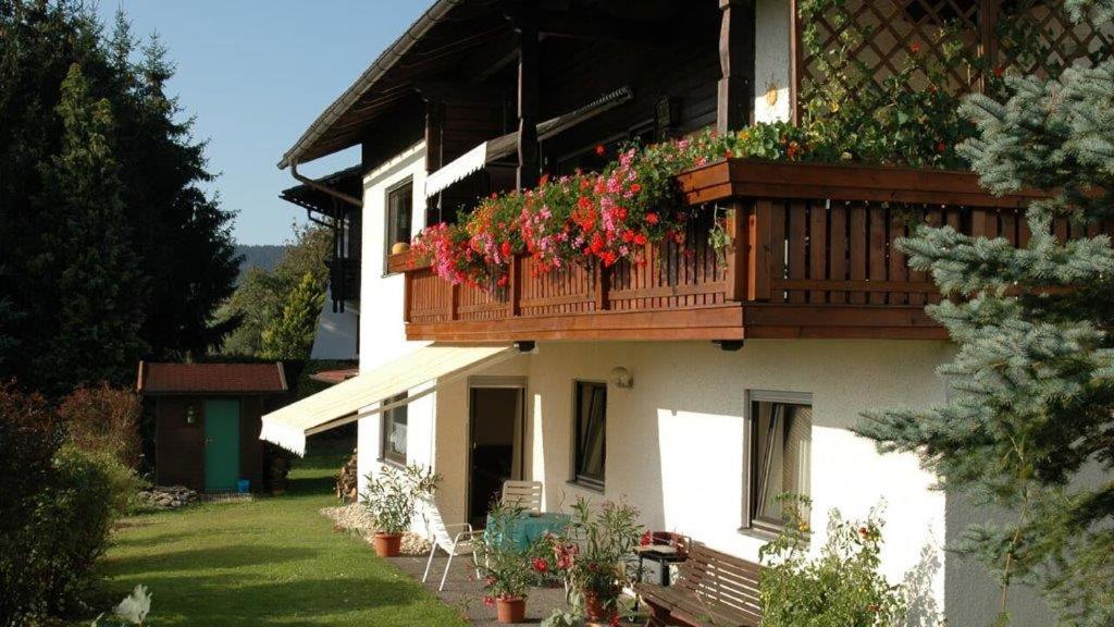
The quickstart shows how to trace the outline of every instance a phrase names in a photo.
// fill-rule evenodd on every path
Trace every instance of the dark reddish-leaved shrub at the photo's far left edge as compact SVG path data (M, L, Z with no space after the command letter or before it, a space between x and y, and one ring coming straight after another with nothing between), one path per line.
M0 626L22 625L40 612L36 556L37 514L53 476L61 444L57 413L38 394L0 383Z

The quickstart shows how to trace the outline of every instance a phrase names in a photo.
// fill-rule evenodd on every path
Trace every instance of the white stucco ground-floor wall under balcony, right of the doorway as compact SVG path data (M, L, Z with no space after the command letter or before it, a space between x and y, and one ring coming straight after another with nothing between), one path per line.
M944 399L934 367L945 343L751 340L737 353L711 343L543 344L530 357L529 467L559 486L547 505L597 493L571 475L573 380L607 380L624 366L634 387L608 387L605 495L626 498L654 529L678 531L756 560L762 540L740 532L746 453L746 392L812 394L812 525L822 542L827 513L863 517L886 503L885 571L921 566L945 539L945 496L911 455L879 455L848 430L866 408ZM838 365L838 367L836 367ZM942 601L942 571L926 591Z

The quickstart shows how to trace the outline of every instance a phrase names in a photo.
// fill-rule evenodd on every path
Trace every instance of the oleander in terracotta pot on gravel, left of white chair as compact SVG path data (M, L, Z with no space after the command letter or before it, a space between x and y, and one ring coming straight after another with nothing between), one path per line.
M433 469L417 464L384 465L378 475L368 474L368 489L361 496L375 528L373 544L379 557L399 554L402 534L410 530L418 499L432 496L440 479Z

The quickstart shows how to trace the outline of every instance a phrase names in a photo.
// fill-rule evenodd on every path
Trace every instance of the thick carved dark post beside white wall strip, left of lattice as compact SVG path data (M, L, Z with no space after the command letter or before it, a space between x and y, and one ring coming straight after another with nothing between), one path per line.
M754 0L720 0L720 133L754 122Z

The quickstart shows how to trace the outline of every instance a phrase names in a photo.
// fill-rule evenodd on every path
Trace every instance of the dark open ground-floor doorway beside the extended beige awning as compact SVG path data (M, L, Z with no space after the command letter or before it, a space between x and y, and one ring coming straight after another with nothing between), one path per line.
M468 521L483 527L502 482L522 476L525 384L471 384L468 395Z

